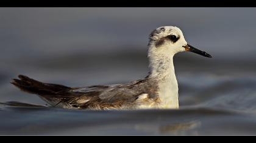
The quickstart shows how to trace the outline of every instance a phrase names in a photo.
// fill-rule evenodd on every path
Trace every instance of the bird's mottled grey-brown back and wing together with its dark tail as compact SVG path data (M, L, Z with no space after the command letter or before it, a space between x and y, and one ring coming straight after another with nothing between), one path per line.
M157 103L157 87L148 77L127 84L94 85L71 88L58 84L47 84L19 75L11 82L16 87L34 93L52 106L92 110L132 109L139 105ZM140 95L148 94L143 101ZM143 102L143 103L142 103Z

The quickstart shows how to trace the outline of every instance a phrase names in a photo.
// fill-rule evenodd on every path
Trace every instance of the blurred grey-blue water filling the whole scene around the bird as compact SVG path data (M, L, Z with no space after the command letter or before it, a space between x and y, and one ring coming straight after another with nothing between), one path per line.
M82 87L148 74L148 36L180 27L210 53L174 57L180 110L0 108L1 135L255 135L256 8L0 8L0 102L45 105L10 79Z

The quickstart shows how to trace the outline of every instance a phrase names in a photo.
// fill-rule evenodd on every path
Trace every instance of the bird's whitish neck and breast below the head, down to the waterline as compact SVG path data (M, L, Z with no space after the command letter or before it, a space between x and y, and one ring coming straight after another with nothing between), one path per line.
M174 71L173 56L151 51L149 48L149 78L158 84L159 108L179 108L178 84Z

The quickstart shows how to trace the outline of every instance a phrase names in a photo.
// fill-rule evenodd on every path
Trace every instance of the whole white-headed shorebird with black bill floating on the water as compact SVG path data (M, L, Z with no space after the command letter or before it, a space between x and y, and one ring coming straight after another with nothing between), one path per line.
M179 108L173 57L185 51L212 58L208 53L189 45L180 28L162 26L149 35L149 75L146 78L126 84L66 87L19 75L19 79L13 79L11 83L23 91L38 95L53 107L85 110Z

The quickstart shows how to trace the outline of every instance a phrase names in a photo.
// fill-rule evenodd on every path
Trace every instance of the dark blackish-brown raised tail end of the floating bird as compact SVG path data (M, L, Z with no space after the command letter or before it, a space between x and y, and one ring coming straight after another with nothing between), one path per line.
M51 96L52 98L57 98L58 96L68 95L70 87L59 84L47 84L35 79L31 79L24 75L19 75L19 79L12 79L11 84L20 88L28 93L34 93L41 96Z

